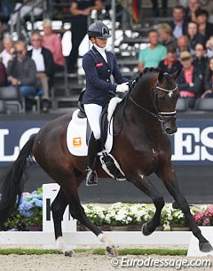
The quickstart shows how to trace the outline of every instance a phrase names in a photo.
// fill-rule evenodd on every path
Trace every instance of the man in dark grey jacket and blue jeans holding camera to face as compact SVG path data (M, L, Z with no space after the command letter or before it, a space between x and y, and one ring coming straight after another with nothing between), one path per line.
M26 100L28 96L36 94L36 64L27 56L25 42L18 41L15 44L12 60L8 62L7 74L9 83L19 87Z

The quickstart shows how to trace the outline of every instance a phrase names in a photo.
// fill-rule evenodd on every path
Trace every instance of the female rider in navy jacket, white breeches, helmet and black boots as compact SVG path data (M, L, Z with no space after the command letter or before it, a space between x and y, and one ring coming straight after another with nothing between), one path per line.
M99 152L100 124L102 108L115 96L116 92L128 92L129 80L122 76L112 52L106 51L109 29L101 21L96 21L88 28L88 36L93 44L91 50L83 56L83 69L86 74L86 88L83 106L89 124L91 137L88 144L87 185L98 183L96 157ZM112 84L110 76L116 84Z

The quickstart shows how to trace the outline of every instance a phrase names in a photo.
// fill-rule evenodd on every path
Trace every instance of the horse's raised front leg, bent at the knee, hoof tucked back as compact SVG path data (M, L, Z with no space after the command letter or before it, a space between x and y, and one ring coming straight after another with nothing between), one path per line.
M148 195L154 202L154 206L156 208L154 217L148 223L142 226L143 234L151 235L154 232L155 228L161 224L161 214L162 208L164 206L163 197L156 190L152 182L142 174L135 177L133 180L131 180L131 182L146 195Z

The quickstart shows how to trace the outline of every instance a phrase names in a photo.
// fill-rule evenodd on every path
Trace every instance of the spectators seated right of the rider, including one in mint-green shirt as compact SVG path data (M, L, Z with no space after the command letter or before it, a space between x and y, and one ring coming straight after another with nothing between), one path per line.
M181 69L177 84L190 109L200 97L213 98L213 24L199 0L175 6L172 20L150 30L148 42L138 55L139 71L159 67L172 74Z

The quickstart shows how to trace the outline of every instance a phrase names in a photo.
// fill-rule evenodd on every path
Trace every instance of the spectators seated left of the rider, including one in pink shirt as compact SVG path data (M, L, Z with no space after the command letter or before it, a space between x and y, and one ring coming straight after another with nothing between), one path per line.
M0 86L19 88L26 111L32 108L30 98L41 96L43 113L47 113L54 74L62 72L65 65L61 40L52 32L51 20L43 20L43 36L39 31L32 32L30 44L22 40L14 43L12 37L5 36L3 45Z

